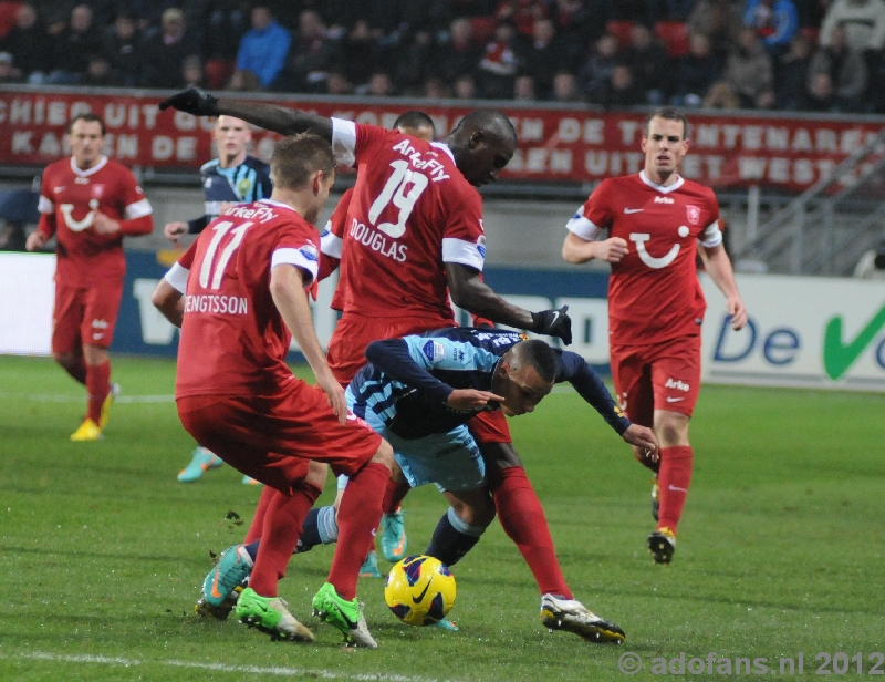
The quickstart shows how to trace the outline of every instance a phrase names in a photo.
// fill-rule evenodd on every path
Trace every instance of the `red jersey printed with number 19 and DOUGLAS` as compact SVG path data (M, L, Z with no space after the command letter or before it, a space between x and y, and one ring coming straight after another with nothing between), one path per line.
M454 319L446 262L482 270L482 199L449 148L333 118L339 162L357 166L346 204L336 307L363 316Z

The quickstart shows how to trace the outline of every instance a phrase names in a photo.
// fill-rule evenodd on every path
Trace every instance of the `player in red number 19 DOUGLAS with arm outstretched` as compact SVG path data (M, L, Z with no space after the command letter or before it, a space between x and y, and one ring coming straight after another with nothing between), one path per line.
M195 115L237 116L282 134L311 131L332 142L341 163L357 164L346 216L346 236L354 248L345 247L341 260L342 277L354 273L353 286L345 292L335 332L342 344L330 344L333 370L344 366L345 358L361 355L371 341L452 326L448 293L475 316L571 343L564 308L529 312L498 297L480 277L486 244L482 202L475 188L497 179L517 146L512 124L500 112L468 114L439 144L298 110L217 100L199 90L160 103L160 108L170 106ZM499 413L483 413L469 427L486 461L501 527L519 548L541 595L571 602L541 502L513 450L507 421ZM407 489L392 487L385 508L395 508L396 496ZM262 495L256 521L266 505ZM247 542L260 537L256 521ZM446 523L445 515L440 523Z

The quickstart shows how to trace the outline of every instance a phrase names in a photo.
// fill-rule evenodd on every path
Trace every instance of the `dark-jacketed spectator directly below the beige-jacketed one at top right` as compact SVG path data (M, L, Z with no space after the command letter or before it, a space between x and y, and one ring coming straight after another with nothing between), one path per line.
M866 62L860 50L848 46L846 33L843 27L834 28L830 33L830 44L819 48L811 58L809 92L815 99L818 111L864 111L863 95L868 78ZM818 78L821 74L827 76L832 96L826 94L824 81Z

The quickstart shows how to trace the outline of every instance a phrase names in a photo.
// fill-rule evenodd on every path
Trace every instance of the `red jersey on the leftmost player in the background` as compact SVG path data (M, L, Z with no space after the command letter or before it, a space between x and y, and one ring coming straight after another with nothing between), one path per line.
M58 237L55 281L88 287L96 280L122 278L126 271L124 235L147 235L154 228L150 203L132 172L103 156L81 170L73 158L56 161L43 170L38 229ZM96 213L121 221L114 235L92 229Z

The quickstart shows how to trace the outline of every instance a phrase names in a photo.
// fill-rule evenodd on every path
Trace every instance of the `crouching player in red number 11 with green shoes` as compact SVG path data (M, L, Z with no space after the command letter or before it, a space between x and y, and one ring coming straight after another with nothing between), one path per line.
M281 141L271 177L271 198L214 220L160 280L154 304L181 328L176 402L185 428L277 493L237 617L275 638L313 639L278 598L277 583L322 492L325 468L313 462L325 463L350 484L339 509L342 550L313 608L348 641L375 648L356 578L396 464L389 444L347 411L313 329L308 292L320 258L313 224L335 177L329 143L315 135ZM316 386L285 364L292 337Z

